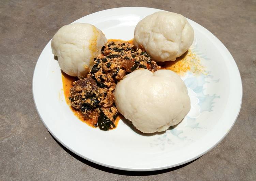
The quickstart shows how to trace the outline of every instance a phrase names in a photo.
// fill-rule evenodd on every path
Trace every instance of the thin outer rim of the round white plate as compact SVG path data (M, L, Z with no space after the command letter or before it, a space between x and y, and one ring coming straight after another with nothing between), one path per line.
M159 11L165 11L165 10L161 10L161 9L155 9L155 8L150 8L150 7L117 7L117 8L112 8L112 9L106 9L106 10L102 10L102 11L98 11L98 12L94 12L94 13L91 13L91 14L88 14L86 16L90 16L90 15L93 15L93 14L97 14L97 13L100 13L100 12L104 12L104 11L112 11L112 10L116 10L116 9L151 9L151 10L159 10ZM83 16L81 18L84 18L86 16ZM79 21L81 18L73 21L72 23L76 22L76 21ZM191 19L190 19L191 20ZM191 20L193 21L193 20ZM235 63L235 67L236 67L236 71L238 73L237 76L240 77L238 81L239 83L239 86L241 87L241 95L240 95L240 105L239 105L239 109L238 109L238 112L237 112L237 115L236 115L236 118L235 120L233 121L231 127L229 128L229 130L225 133L224 136L222 136L221 139L219 139L219 141L217 143L215 143L213 146L211 146L209 149L207 149L206 151L202 152L201 154L197 155L196 157L194 158L191 158L189 160L186 160L184 162L180 162L178 164L175 164L175 165L168 165L168 166L163 166L163 167L157 167L157 168L147 168L147 169L138 169L138 168L123 168L123 167L117 167L117 166L113 166L113 165L108 165L108 164L104 164L104 163L101 163L101 162L98 162L98 161L95 161L95 160L92 160L84 155L81 155L80 153L76 152L75 150L73 150L72 148L68 147L67 145L65 145L49 128L48 126L46 125L45 121L43 120L40 112L39 112L39 109L36 105L36 100L35 100L35 93L34 93L34 81L35 81L35 70L36 70L36 67L38 66L38 63L39 63L39 59L40 57L42 56L45 48L47 47L47 45L51 42L51 39L49 40L49 42L46 44L46 46L44 47L44 49L42 50L42 52L40 53L40 56L39 58L37 59L37 62L36 62L36 65L35 65L35 68L34 68L34 72L33 72L33 79L32 79L32 93L33 93L33 100L34 100L34 104L35 104L35 108L36 108L36 111L37 111L37 114L39 115L40 119L42 120L44 126L47 128L47 130L50 132L50 134L52 136L54 136L54 138L60 143L62 144L65 148L67 148L68 150L72 151L73 153L77 154L79 157L83 158L83 159L86 159L92 163L96 163L98 165L102 165L102 166L105 166L105 167L109 167L109 168L113 168L113 169L119 169L119 170L126 170L126 171L154 171L154 170L162 170L162 169L167 169L167 168L172 168L172 167L176 167L176 166L179 166L179 165L183 165L185 163L188 163L188 162L191 162L199 157L201 157L202 155L206 154L208 151L210 151L211 149L213 149L217 144L219 144L225 137L226 135L229 133L229 131L232 129L232 127L234 126L238 116L239 116L239 113L240 113L240 110L241 110L241 105L242 105L242 96L243 96L243 86L242 86L242 79L241 79L241 75L240 75L240 71L238 69L238 66L236 64L236 61L234 60L234 57L231 55L231 53L228 51L228 49L226 48L226 46L213 34L211 33L209 30L207 30L205 27L201 26L199 23L193 21L194 23L198 24L200 27L202 27L203 29L205 29L206 32L210 33L212 36L214 36L214 38L216 38L216 40L221 43L223 45L223 48L225 48L225 52L228 53L228 55L231 57L230 61L232 63ZM71 24L72 24L71 23Z

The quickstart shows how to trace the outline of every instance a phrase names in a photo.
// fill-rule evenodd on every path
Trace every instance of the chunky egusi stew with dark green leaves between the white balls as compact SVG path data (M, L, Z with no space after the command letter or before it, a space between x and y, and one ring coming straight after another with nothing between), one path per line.
M73 82L70 104L89 120L91 126L99 126L101 130L115 127L118 115L115 87L126 74L137 69L149 72L160 69L147 52L133 47L128 42L107 42L102 53L94 59L87 77Z

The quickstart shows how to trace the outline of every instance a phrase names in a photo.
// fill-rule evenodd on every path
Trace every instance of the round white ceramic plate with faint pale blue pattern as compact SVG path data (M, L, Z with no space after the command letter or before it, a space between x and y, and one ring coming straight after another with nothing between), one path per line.
M107 39L130 40L136 24L157 11L163 10L122 7L96 12L75 22L95 25ZM147 136L135 132L122 120L110 131L89 127L65 102L60 67L49 42L37 61L33 76L35 105L49 132L80 157L123 170L175 167L216 146L239 114L241 77L233 57L220 40L196 22L188 21L195 31L191 49L200 57L206 73L187 72L182 77L189 90L191 110L177 127Z

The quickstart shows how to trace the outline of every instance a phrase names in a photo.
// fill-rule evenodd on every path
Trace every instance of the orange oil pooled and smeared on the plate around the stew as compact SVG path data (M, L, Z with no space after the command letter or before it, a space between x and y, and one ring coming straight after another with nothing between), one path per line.
M133 44L133 39L129 41L124 41L121 39L108 39L108 42L129 42ZM176 72L178 75L182 76L184 75L185 72L191 71L192 73L199 73L204 71L204 67L201 66L200 60L194 54L191 50L186 51L182 56L178 57L176 61L167 61L167 62L160 62L157 63L158 65L161 66L161 69L169 69L174 72ZM74 115L77 116L81 121L85 122L87 125L95 128L93 124L91 123L91 120L89 119L84 119L80 111L74 109L70 105L70 100L69 100L69 91L70 88L73 87L72 82L78 80L77 77L72 77L61 71L62 74L62 83L63 83L63 91L64 91L64 96L66 99L66 103L70 106L70 109L73 111ZM115 126L117 127L118 122L120 120L120 116L117 116L116 121L115 121Z

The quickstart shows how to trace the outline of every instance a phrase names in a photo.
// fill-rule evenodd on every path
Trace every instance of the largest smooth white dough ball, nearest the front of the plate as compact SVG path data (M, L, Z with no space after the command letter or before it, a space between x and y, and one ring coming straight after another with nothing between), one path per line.
M171 70L139 69L115 89L117 110L143 133L165 131L190 111L190 98L181 78Z

